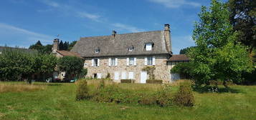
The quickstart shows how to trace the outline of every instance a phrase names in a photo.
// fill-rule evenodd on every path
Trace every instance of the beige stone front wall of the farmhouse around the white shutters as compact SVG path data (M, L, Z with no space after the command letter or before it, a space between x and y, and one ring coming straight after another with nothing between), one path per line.
M119 72L119 80L116 82L120 82L122 72L126 73L126 78L128 79L128 72L133 71L133 77L136 83L140 83L141 71L144 67L146 67L145 57L146 56L135 56L136 57L136 66L127 66L127 56L117 57L118 65L117 66L109 66L109 58L110 57L99 57L100 66L92 66L92 59L85 59L85 68L87 68L87 77L93 77L94 74L100 73L102 78L105 78L107 74L110 74L111 79L114 79L115 72ZM163 80L164 83L169 82L171 78L170 67L167 66L167 57L168 56L155 56L155 67L154 71L155 78ZM115 57L113 57L115 58ZM147 76L148 79L148 76Z

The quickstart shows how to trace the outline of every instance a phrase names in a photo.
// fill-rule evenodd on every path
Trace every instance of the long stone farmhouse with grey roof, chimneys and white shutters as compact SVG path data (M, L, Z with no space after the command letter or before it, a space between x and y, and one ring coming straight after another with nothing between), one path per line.
M163 30L144 31L131 34L82 37L71 51L58 51L58 39L54 39L53 53L57 57L78 56L85 59L87 77L105 78L120 82L133 79L135 83L146 83L146 66L155 66L155 79L168 83L179 79L179 74L171 74L171 68L189 59L185 55L173 55L171 51L171 31L169 24Z

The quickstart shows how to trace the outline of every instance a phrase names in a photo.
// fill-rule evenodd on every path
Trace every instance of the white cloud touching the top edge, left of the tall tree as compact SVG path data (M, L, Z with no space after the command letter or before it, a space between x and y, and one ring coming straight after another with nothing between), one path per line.
M149 0L152 2L155 2L157 4L162 4L163 6L166 6L168 8L179 8L180 6L188 5L188 6L194 6L198 7L201 6L201 4L193 1L186 1L186 0Z

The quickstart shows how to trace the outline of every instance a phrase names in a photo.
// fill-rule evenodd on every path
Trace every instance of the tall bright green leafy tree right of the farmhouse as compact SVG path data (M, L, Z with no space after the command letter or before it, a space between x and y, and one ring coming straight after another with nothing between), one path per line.
M239 81L242 71L252 71L252 62L246 47L234 41L237 33L229 22L229 11L225 4L212 0L207 10L202 6L196 22L193 39L196 47L189 51L194 65L191 71L197 86L209 85L209 81Z

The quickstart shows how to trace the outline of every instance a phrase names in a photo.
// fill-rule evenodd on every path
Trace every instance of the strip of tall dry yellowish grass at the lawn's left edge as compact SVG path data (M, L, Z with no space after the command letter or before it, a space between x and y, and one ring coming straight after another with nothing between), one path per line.
M34 84L24 84L24 83L9 83L0 82L0 93L4 92L22 92L22 91L37 91L45 89L46 86L34 85Z

